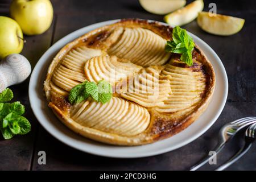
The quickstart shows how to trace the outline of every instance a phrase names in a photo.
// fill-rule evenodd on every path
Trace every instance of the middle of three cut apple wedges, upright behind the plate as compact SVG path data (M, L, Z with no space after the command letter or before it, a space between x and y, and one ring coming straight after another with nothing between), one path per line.
M170 26L182 26L196 19L199 12L203 11L203 0L196 0L182 9L176 10L171 14L164 16L164 21L170 24Z

